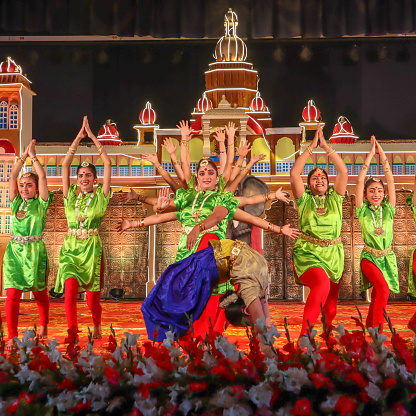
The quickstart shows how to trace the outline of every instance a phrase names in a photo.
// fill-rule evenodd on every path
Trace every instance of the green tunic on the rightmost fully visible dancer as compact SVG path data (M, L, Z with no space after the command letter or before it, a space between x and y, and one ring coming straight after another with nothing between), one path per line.
M355 210L357 218L360 220L361 234L363 236L364 243L376 250L386 250L393 242L393 217L396 213L396 208L390 204L387 198L384 198L381 203L381 207L383 210L384 230L384 234L382 235L374 234L374 220L371 215L371 211L373 211L376 225L378 227L380 225L380 209L374 210L370 207L368 201L364 201L361 206L357 207ZM371 263L376 265L380 269L381 273L383 273L383 277L386 280L389 289L394 293L399 293L399 272L397 270L396 255L393 250L391 250L387 255L381 257L375 257L371 253L363 250L361 252L360 263L363 259L371 261ZM372 286L372 284L364 276L361 270L360 273L360 290L367 290Z

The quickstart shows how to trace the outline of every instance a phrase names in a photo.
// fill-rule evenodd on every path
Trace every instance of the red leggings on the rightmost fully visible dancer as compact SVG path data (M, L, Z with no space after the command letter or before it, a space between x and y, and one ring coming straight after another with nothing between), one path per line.
M366 259L361 260L361 271L373 285L370 308L368 309L368 316L365 322L366 326L367 328L378 328L381 325L382 331L384 322L383 309L387 306L390 294L389 285L383 273L371 261Z

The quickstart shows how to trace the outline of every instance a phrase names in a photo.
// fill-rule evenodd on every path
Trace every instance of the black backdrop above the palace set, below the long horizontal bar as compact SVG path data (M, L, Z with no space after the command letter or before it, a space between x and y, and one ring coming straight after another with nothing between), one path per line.
M215 44L2 42L0 59L13 57L33 83L33 136L38 141L71 141L84 114L96 133L112 118L123 140L135 140L132 127L148 100L162 128L190 118L205 89L204 72L213 62ZM299 56L304 45L312 52L310 61ZM353 45L356 62L349 56ZM416 138L413 38L250 40L247 46L247 61L258 70L259 90L274 127L297 126L312 98L328 133L338 116L345 115L363 139L371 134L379 139ZM386 59L380 59L380 51Z

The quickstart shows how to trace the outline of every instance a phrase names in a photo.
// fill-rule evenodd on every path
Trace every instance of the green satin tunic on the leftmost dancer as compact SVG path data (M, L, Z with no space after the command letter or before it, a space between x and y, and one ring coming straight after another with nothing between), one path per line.
M22 237L41 235L45 227L46 210L52 201L52 192L49 192L46 201L40 197L32 199L25 217L17 218L16 213L23 202L20 194L17 194L10 202L12 235ZM10 241L7 244L3 258L5 289L13 288L24 292L44 290L46 289L47 270L48 256L45 243L42 240L30 241L25 244Z

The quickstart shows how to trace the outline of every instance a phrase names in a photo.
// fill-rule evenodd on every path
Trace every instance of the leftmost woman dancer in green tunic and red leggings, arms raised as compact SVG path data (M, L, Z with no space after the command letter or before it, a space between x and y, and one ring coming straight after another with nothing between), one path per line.
M45 227L46 210L53 201L53 193L48 192L45 171L36 157L35 142L30 142L22 157L14 164L9 177L11 236L3 260L8 351L16 349L17 345L15 337L18 336L22 292L33 292L40 315L39 338L48 336L48 257L41 234ZM28 155L36 173L24 173L17 184L17 177Z

